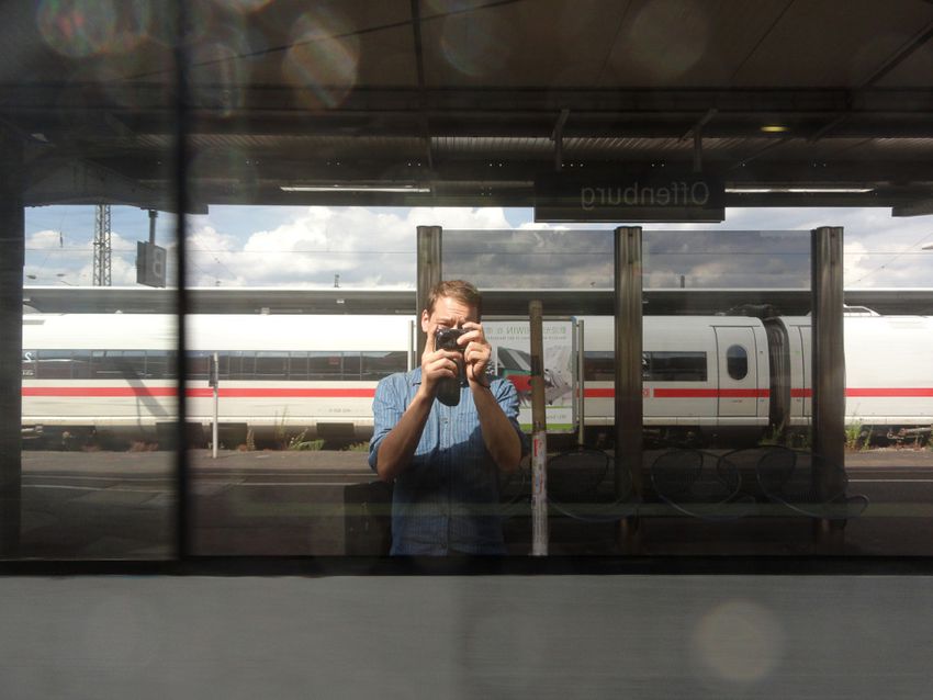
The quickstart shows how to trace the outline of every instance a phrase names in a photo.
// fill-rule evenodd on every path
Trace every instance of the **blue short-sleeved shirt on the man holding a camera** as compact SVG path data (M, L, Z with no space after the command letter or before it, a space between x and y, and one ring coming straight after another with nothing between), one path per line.
M379 445L402 418L421 383L420 368L379 383L373 399L369 463L375 470ZM521 439L518 393L493 380L490 389ZM460 404L435 399L412 463L395 478L392 496L392 554L505 554L498 470L483 442L480 417L469 387Z

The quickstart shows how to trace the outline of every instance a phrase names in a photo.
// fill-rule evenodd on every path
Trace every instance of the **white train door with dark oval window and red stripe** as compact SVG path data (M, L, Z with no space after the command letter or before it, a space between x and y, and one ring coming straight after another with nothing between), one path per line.
M758 362L755 331L747 326L715 326L720 417L757 416Z

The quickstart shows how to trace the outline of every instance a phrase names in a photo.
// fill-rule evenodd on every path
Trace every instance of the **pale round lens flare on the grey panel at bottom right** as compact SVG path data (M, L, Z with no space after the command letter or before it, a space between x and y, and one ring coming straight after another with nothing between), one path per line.
M784 636L780 621L766 608L733 600L713 608L699 621L693 652L704 669L717 678L755 682L780 664Z

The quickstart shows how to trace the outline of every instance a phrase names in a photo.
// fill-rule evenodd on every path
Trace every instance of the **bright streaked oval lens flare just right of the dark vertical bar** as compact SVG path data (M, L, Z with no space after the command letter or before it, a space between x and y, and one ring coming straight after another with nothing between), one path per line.
M311 109L338 106L357 82L359 36L329 12L304 14L294 26L282 74Z

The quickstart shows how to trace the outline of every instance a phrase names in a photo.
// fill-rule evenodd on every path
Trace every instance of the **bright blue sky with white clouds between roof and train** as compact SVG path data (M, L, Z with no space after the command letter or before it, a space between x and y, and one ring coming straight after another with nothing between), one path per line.
M483 287L611 287L610 226L532 223L528 208L215 206L189 219L189 285L407 287L415 228L440 225L445 275ZM809 286L809 230L845 228L845 286L933 286L933 216L887 208L727 210L719 225L647 225L645 286ZM171 248L171 216L156 242ZM26 210L25 284L92 281L93 206ZM136 283L147 212L112 208L112 282ZM793 232L793 233L791 233ZM171 270L170 270L171 275ZM170 276L171 280L171 276Z

